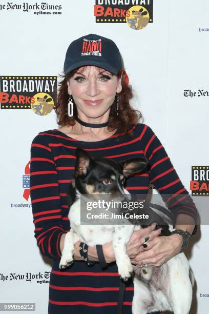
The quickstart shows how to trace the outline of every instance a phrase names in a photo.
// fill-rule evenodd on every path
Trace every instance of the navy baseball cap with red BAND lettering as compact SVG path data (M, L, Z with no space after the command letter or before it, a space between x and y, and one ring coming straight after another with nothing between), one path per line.
M123 69L122 58L116 44L109 38L96 34L82 36L73 41L66 52L64 72L94 65L117 75Z

